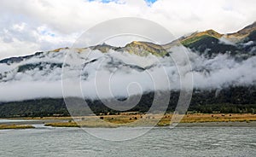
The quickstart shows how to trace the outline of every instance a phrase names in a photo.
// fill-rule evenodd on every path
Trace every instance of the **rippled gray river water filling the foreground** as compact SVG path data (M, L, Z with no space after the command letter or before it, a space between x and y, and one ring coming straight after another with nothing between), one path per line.
M136 139L112 142L79 128L37 125L36 129L0 131L0 139L1 157L256 156L256 127L161 127Z

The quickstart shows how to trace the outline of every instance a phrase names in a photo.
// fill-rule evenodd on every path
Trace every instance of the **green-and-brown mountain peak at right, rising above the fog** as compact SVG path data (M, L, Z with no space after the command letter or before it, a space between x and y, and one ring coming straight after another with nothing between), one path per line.
M166 44L165 47L171 48L183 44L183 46L208 57L227 53L240 56L243 54L243 57L248 57L256 54L255 30L256 22L230 34L220 34L213 30L194 32L189 36L178 38L172 43Z

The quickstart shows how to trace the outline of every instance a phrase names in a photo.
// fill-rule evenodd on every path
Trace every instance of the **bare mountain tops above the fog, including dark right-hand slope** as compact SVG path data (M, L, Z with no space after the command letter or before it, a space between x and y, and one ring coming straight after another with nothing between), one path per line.
M157 56L163 56L167 54L167 49L171 49L174 46L182 44L183 46L198 51L199 53L205 53L206 55L218 54L218 53L231 53L233 55L237 53L243 53L248 55L255 55L254 46L256 43L256 21L249 26L244 27L238 32L229 34L220 34L214 30L207 30L205 32L194 32L189 36L183 36L177 40L172 41L169 44L153 44L149 42L133 41L130 44L126 44L125 47L115 47L108 44L99 44L90 46L88 49L100 50L102 53L108 52L113 49L117 51L128 51L131 54L136 55L148 55L153 54ZM52 50L52 52L58 52L60 48ZM86 48L84 48L86 49ZM251 51L253 49L253 51ZM79 49L82 51L83 49ZM50 51L49 51L50 52ZM208 52L208 54L207 54ZM38 52L35 55L38 55ZM33 55L26 55L20 57L12 57L0 61L4 62L17 62L23 61L26 58L32 57Z

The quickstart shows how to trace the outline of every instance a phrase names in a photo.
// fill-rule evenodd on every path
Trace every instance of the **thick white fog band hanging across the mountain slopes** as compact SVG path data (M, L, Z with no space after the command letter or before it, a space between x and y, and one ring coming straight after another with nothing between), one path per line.
M254 55L242 58L239 56L243 54L226 53L207 57L183 46L168 49L169 54L164 56L141 56L114 49L108 49L107 53L98 49L91 52L89 49L75 49L72 53L69 50L59 49L22 59L0 61L0 102L62 97L62 64L66 55L72 55L73 61L83 62L77 67L71 66L68 61L64 64L68 71L64 79L68 82L66 85L70 86L69 96L77 96L73 93L74 84L81 84L84 97L91 99L98 98L99 89L101 98L108 98L111 96L108 88L116 97L154 90L179 90L180 74L186 78L189 73L193 73L194 88L201 90L256 84ZM180 55L184 51L189 56L189 62ZM177 67L182 70L178 72ZM154 79L151 74L155 76ZM163 81L164 78L168 78L169 83ZM154 86L155 83L158 85Z

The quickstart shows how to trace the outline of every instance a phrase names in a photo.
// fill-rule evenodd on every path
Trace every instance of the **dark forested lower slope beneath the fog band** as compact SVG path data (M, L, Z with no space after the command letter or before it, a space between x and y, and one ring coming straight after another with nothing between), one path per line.
M177 106L179 92L172 91L166 113L172 113ZM256 112L256 86L254 87L230 87L224 90L195 90L188 111L191 113L255 113ZM79 99L79 98L74 98ZM147 113L154 100L154 92L143 95L137 106L128 110ZM112 100L108 100L111 102ZM74 101L75 102L75 101ZM84 100L82 100L84 102ZM99 100L87 99L90 108L79 108L73 111L73 115L88 115L89 109L95 114L121 113L106 107ZM157 113L161 106L154 108ZM127 111L125 111L127 112ZM86 114L88 113L88 114ZM0 117L45 117L68 116L65 102L61 98L26 100L22 102L0 103Z

